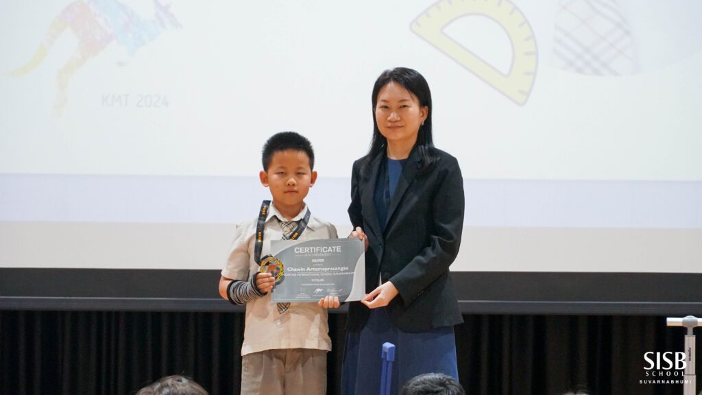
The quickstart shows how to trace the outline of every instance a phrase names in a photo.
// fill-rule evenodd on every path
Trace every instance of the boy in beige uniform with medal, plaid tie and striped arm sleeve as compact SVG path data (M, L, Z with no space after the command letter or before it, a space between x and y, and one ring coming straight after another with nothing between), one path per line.
M275 134L263 146L260 181L273 202L258 218L237 225L220 295L246 304L241 345L241 394L326 394L326 352L331 350L326 309L338 297L319 303L272 303L275 278L259 273L267 255L263 240L337 238L336 228L310 213L305 196L317 180L314 152L307 138L292 131Z

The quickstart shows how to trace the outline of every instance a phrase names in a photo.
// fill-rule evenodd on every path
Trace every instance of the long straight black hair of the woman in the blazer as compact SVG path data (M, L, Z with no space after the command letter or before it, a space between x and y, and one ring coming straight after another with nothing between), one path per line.
M380 134L380 129L378 129L376 105L378 104L380 89L390 82L404 86L404 89L416 96L419 105L426 107L428 110L427 118L419 127L417 142L415 143L415 148L419 150L422 157L420 172L427 171L437 160L437 155L432 149L434 148L434 142L432 141L432 93L429 90L427 80L416 70L407 67L395 67L392 70L385 70L376 79L376 84L373 85L373 96L371 97L371 103L373 103L373 141L371 141L371 148L368 150L368 153L362 158L362 168L365 168L376 155L384 152L386 145L388 145L388 140Z

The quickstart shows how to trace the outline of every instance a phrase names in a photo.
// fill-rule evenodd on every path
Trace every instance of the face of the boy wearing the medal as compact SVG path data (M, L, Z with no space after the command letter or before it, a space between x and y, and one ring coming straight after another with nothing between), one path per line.
M310 158L298 150L274 153L268 171L261 171L259 176L279 207L301 205L310 187L317 181L317 171L310 169Z

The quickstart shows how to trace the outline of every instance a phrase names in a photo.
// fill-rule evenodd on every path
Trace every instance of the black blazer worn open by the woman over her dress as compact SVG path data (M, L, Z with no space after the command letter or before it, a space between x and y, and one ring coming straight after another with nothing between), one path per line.
M385 150L362 167L353 164L351 205L348 212L354 228L368 236L366 292L390 280L399 294L388 309L393 322L406 332L463 322L449 277L463 231L463 176L455 157L429 148L437 161L427 171L415 146L397 181L383 228L373 203L376 179ZM349 306L347 330L363 328L369 309L360 302Z

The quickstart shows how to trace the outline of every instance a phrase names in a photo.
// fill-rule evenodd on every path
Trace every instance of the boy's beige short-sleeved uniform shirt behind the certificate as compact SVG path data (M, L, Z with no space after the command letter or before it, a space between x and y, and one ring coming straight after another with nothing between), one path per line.
M307 206L293 218L293 221L303 219ZM233 280L249 280L251 274L258 271L258 264L253 260L255 245L256 220L243 221L237 224L234 232L234 242L227 259L227 265L222 276ZM263 251L261 257L269 253L270 243L266 240L281 240L283 231L280 221L287 221L274 205L270 205L265 227L263 228ZM323 221L314 214L310 215L307 228L298 240L338 238L336 228L329 222ZM277 306L271 301L270 292L264 297L254 299L246 304L246 326L244 328L244 344L241 345L241 355L251 354L270 349L321 349L331 350L329 325L326 323L326 309L317 303L290 304L285 313L278 313Z

